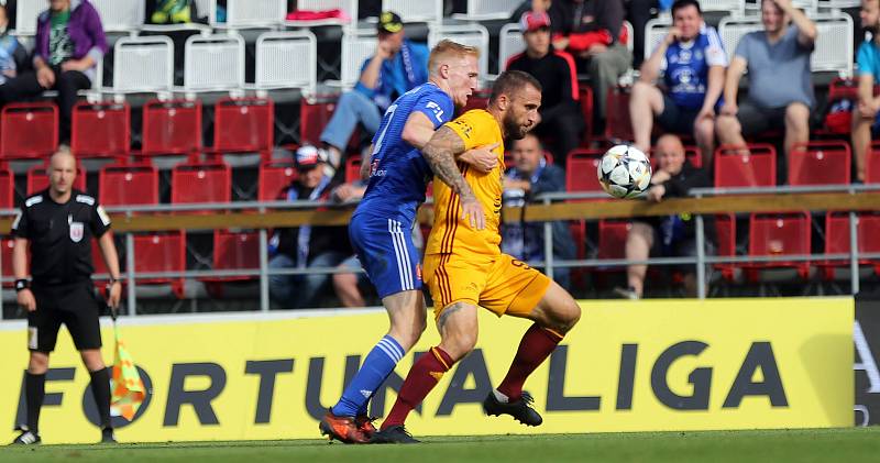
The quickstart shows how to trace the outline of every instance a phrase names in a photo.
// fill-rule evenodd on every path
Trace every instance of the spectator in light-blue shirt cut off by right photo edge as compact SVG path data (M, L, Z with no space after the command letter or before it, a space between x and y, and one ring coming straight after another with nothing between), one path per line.
M870 31L856 57L859 73L859 99L853 111L853 151L856 154L856 179L865 181L866 161L871 137L880 129L880 97L873 87L880 82L880 0L861 0L861 26Z

